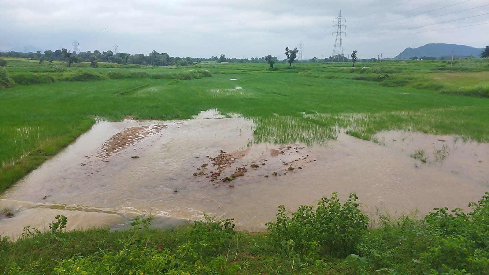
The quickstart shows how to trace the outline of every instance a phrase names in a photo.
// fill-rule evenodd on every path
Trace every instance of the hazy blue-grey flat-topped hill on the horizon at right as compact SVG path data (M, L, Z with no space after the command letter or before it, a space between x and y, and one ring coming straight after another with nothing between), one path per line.
M411 57L427 56L427 57L445 57L451 56L452 50L455 52L456 57L473 56L479 57L479 54L484 51L484 48L474 48L465 45L444 44L444 43L431 43L417 48L406 48L395 58L408 59Z

